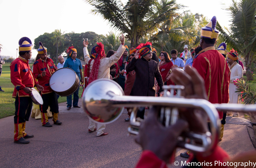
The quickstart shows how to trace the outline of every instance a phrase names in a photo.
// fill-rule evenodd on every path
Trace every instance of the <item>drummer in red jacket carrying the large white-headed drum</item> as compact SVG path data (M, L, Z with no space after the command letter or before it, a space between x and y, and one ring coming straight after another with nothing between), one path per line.
M44 87L44 90L41 91L44 104L40 106L42 125L52 127L47 117L47 109L49 106L53 116L53 123L56 125L62 124L62 122L58 120L57 94L49 87L49 79L57 67L55 67L52 59L47 58L47 48L45 48L41 42L39 42L39 46L38 55L40 59L35 61L33 73L35 78L38 79L38 83Z

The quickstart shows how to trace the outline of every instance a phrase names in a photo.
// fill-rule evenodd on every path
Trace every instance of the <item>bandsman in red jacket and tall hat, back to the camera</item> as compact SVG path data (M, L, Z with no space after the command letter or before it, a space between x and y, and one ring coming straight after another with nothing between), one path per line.
M212 104L221 104L229 101L230 68L224 56L214 48L218 38L218 30L215 28L216 22L217 20L214 16L202 28L200 45L203 50L195 56L192 66L198 70L198 73L204 79L207 100ZM220 120L222 120L223 112L218 113ZM221 127L220 129L223 128Z

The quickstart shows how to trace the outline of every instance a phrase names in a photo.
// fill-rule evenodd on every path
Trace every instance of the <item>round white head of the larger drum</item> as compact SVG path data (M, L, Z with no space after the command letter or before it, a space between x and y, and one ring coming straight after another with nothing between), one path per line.
M76 82L76 73L70 68L61 68L52 74L49 84L53 91L64 92Z

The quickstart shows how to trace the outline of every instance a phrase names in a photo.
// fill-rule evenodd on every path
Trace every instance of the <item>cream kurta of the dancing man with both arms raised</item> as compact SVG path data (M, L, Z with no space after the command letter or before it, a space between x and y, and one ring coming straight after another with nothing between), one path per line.
M118 60L122 56L125 49L126 48L125 48L124 45L120 45L118 50L116 51L116 53L113 56L111 56L109 58L100 59L98 79L102 79L102 78L110 79L110 69L109 68L113 64L118 62ZM87 50L87 47L84 47L84 61L85 61L85 63L88 64L90 59L91 58L90 58L89 52ZM92 60L92 62L90 63L90 71L92 70L93 63L94 63L94 60Z

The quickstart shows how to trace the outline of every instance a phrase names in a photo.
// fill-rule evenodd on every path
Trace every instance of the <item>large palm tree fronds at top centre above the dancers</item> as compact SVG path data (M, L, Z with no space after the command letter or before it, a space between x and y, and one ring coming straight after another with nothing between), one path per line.
M143 36L157 32L170 15L175 16L177 10L183 8L176 0L161 0L164 6L158 0L129 0L126 5L121 0L85 1L94 7L94 14L101 15L116 30L127 34L130 47L136 47Z

